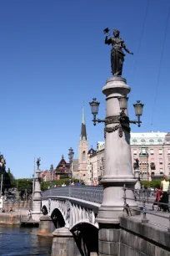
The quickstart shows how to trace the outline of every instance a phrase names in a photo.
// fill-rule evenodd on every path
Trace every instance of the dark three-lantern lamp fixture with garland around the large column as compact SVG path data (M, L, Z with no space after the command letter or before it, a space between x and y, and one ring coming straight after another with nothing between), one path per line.
M128 97L122 96L117 98L119 100L120 105L120 115L114 115L106 117L105 120L96 118L98 114L98 106L100 105L100 102L97 101L96 98L92 99L92 102L90 102L91 111L93 115L93 125L96 125L96 123L105 123L105 125L108 124L114 124L119 123L119 125L116 125L114 127L105 127L105 132L112 132L119 129L119 136L122 137L122 129L124 128L126 131L130 132L130 128L128 127L129 124L138 124L138 127L140 127L142 121L141 121L141 115L143 115L143 104L140 102L140 100L137 100L137 103L134 104L135 109L135 115L138 117L138 120L129 120L128 115L126 115L125 110L127 110L128 105Z

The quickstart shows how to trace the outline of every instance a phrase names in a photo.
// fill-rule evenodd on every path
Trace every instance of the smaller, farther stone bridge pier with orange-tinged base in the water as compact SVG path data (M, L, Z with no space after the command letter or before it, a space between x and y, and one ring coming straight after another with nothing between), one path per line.
M52 218L48 215L43 215L40 218L39 223L39 230L37 235L39 236L45 236L45 237L52 237L52 232L55 230L55 226L52 223Z

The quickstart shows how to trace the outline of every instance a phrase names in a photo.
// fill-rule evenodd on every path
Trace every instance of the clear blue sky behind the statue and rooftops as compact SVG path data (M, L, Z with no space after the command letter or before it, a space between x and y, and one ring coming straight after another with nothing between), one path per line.
M149 5L148 0L0 0L0 151L15 177L32 175L34 156L42 157L43 170L57 166L62 154L67 159L70 146L77 156L83 101L89 146L104 140L103 125L92 125L88 102L97 97L98 117L104 118L102 86L111 76L106 27L118 28L134 53L126 55L122 74L132 88L131 119L136 100L145 106L143 125L132 131L170 131L170 20L159 69L169 5L169 0Z

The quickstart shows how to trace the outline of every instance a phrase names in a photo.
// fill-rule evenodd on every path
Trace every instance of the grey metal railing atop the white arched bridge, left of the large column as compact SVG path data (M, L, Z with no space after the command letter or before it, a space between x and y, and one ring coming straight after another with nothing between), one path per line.
M54 187L42 192L42 198L45 197L74 197L89 202L102 203L103 187L102 186L66 186Z

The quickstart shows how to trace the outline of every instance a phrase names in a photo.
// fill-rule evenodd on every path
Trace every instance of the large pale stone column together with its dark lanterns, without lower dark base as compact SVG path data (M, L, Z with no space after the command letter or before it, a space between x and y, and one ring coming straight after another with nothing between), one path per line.
M128 187L127 197L129 207L135 209L137 203L133 201L134 195L130 188L134 187L137 180L133 177L132 156L130 147L130 124L141 125L143 104L140 100L133 105L137 120L128 117L128 93L130 87L126 79L121 76L112 76L107 79L102 93L106 95L106 118L97 119L100 102L96 98L89 102L93 115L93 125L104 123L105 161L104 174L101 180L103 185L103 200L99 208L98 223L119 223L124 202L122 200L122 187ZM112 197L114 195L114 197ZM132 200L130 199L132 198ZM132 211L133 212L133 211Z

